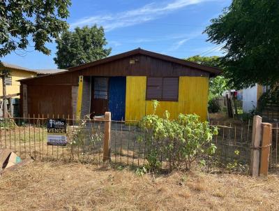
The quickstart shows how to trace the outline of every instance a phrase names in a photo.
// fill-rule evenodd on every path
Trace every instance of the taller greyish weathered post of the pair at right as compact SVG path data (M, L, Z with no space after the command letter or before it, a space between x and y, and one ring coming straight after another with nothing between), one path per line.
M259 145L262 138L262 117L253 117L250 174L259 176Z

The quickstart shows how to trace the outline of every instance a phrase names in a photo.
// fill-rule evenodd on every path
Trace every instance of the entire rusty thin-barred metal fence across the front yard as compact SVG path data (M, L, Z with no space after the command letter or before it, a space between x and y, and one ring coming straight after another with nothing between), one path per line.
M104 120L66 118L68 144L53 146L47 145L47 118L48 116L29 116L1 121L0 149L13 150L22 159L32 157L40 161L103 162ZM142 166L146 163L150 146L146 145L146 132L138 124L139 121L135 120L111 121L112 162L131 166ZM213 137L213 143L218 147L216 160L224 166L236 160L248 165L252 136L250 121L248 124L210 122L210 125L217 126L219 131L218 135ZM141 141L139 137L143 137ZM158 145L155 143L151 147ZM165 157L165 154L160 154L160 161L167 165Z

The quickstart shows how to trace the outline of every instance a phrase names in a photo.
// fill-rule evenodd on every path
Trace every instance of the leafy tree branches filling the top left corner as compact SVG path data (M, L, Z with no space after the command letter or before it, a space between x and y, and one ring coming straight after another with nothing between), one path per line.
M33 42L35 50L50 54L45 46L68 28L70 0L0 1L0 58Z

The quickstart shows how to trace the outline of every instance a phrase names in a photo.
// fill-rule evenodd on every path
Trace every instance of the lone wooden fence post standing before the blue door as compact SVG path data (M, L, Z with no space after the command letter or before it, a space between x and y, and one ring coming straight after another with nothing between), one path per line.
M104 136L104 152L103 161L110 161L110 127L112 124L111 112L105 112L105 136Z

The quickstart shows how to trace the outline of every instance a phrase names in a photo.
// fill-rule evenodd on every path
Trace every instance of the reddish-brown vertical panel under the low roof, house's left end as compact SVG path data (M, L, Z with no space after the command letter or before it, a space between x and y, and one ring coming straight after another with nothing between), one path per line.
M27 92L28 112L31 117L72 117L72 87L28 85Z

